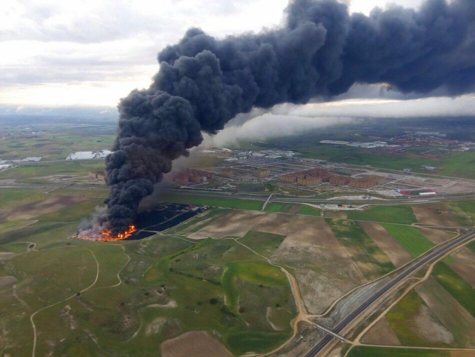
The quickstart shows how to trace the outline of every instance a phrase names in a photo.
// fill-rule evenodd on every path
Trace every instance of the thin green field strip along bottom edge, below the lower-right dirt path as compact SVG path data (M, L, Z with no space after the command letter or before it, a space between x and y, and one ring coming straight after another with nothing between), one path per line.
M368 347L351 348L348 357L450 357L449 351L410 348Z

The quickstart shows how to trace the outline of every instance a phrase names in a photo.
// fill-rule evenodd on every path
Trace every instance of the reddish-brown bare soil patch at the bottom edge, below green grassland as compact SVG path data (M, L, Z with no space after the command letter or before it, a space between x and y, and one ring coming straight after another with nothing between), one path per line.
M232 357L226 347L206 331L189 331L160 344L162 357Z

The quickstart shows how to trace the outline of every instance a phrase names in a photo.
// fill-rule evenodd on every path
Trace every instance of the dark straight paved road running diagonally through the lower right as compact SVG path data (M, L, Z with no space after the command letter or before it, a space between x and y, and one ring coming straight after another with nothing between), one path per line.
M449 243L437 248L433 252L423 256L418 260L416 263L413 263L409 267L407 267L405 270L401 271L396 277L394 277L390 282L388 282L386 285L384 285L381 289L376 291L374 295L369 297L366 301L364 301L361 305L359 305L353 312L351 312L343 321L338 323L336 327L333 328L333 332L339 333L344 327L346 327L356 316L358 316L361 312L363 312L369 305L371 305L376 299L378 299L382 294L384 294L386 291L388 291L390 288L392 288L394 285L396 285L399 281L401 281L403 278L405 278L407 275L410 273L414 272L418 268L420 268L422 265L425 263L429 262L430 260L439 257L443 253L445 253L447 250L453 248L454 246L461 244L467 240L470 240L475 233L475 230L471 230L470 232L450 241ZM323 347L325 347L328 342L330 342L333 339L333 336L327 334L323 339L321 339L316 345L313 346L312 349L310 349L307 354L305 354L305 357L313 357L316 355Z

